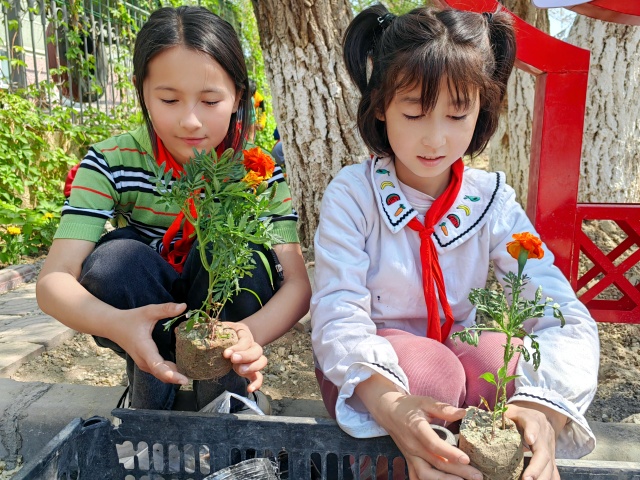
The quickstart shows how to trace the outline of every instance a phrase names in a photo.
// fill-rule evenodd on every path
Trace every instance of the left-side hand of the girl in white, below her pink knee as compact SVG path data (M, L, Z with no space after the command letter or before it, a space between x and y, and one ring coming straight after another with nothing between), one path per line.
M435 418L460 420L464 409L402 393L381 375L358 385L356 392L404 455L411 480L482 480L482 474L469 465L469 457L441 440L429 425Z

